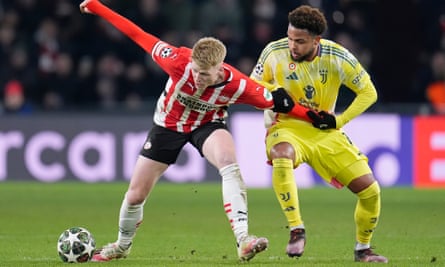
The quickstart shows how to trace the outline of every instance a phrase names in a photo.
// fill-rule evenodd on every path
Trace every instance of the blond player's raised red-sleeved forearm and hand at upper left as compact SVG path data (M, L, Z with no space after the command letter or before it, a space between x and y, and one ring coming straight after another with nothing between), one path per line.
M102 17L150 54L153 46L159 41L159 38L143 31L132 21L109 9L98 0L84 0L79 8L82 13Z

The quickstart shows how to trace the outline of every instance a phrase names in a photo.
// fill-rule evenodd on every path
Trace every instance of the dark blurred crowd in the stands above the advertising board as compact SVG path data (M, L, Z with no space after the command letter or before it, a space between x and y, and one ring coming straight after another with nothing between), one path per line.
M445 1L102 1L178 46L221 39L227 62L246 74L268 42L286 36L290 10L316 6L329 23L325 37L357 56L380 103L445 103ZM166 75L151 57L104 20L81 14L80 2L0 0L1 113L138 110L162 92Z

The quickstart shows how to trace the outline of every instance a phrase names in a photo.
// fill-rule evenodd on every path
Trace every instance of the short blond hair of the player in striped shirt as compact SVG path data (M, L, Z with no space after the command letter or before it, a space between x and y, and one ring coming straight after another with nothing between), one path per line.
M226 46L218 39L199 39L192 50L192 60L201 68L210 68L222 63L226 57Z

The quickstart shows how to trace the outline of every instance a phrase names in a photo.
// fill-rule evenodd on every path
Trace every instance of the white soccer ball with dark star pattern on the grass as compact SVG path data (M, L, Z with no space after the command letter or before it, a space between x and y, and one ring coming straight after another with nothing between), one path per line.
M95 248L93 235L83 227L66 229L57 241L57 251L63 262L87 262Z

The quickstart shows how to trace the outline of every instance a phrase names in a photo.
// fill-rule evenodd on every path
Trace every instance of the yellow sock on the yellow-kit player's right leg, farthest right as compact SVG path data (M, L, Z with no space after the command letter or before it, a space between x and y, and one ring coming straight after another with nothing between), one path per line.
M380 187L377 182L357 193L355 208L355 224L357 242L370 244L372 234L377 226L380 215Z

